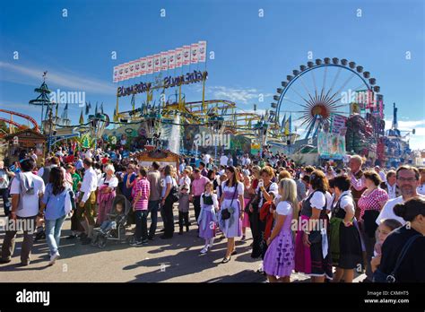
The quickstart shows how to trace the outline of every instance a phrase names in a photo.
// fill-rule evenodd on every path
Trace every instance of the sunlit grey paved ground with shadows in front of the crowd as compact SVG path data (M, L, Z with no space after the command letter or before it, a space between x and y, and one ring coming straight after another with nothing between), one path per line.
M2 210L3 211L3 210ZM177 211L176 211L177 212ZM193 212L193 210L192 210ZM176 214L176 213L175 213ZM191 215L192 224L195 216ZM69 220L65 221L60 246L61 258L48 266L48 246L45 240L36 242L31 263L19 267L22 234L18 235L13 260L0 264L2 281L7 282L265 282L265 276L256 273L261 261L250 257L251 233L247 241L237 241L238 255L230 263L221 264L226 251L226 240L216 239L212 251L200 256L204 239L197 238L192 226L184 235L162 240L157 234L154 241L143 247L130 247L126 242L108 241L107 247L83 246L78 239L68 240ZM162 222L159 220L159 229ZM178 227L176 228L178 229ZM131 230L127 231L131 235ZM4 232L0 233L3 243ZM356 281L362 280L359 276ZM308 281L303 274L292 274L293 281Z

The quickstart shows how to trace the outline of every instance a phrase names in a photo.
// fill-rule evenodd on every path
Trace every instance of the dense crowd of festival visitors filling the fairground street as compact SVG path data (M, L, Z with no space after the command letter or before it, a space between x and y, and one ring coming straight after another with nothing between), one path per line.
M261 158L203 154L150 168L131 153L72 145L39 167L34 156L12 169L0 162L4 213L38 226L35 235L24 230L22 265L30 264L33 240L44 238L55 264L67 216L66 239L96 244L125 221L129 245L140 247L156 239L160 212L161 239L178 239L175 224L178 235L195 229L205 254L226 238L222 264L250 228L251 257L261 258L258 272L269 282L290 282L293 272L312 282L352 282L356 271L366 273L363 282L425 282L424 168L367 168L359 155L338 166L299 166L266 149ZM15 236L6 230L0 263L11 261Z

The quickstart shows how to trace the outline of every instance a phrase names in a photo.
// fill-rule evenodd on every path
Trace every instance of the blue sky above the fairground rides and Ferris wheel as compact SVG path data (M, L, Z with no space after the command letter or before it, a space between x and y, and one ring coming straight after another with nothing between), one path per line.
M166 17L160 17L161 9ZM260 9L264 17L258 16ZM114 65L198 40L206 40L215 54L207 61L207 99L235 100L246 110L254 104L268 109L286 75L308 62L308 51L314 59L347 58L377 79L386 119L392 118L395 102L399 126L416 128L412 147L425 142L421 0L2 2L0 105L39 119L39 108L28 101L48 70L51 90L85 91L86 100L104 102L112 115ZM117 60L111 59L112 51ZM407 51L411 59L406 59ZM138 80L126 85L134 82ZM188 100L201 100L196 86L185 91ZM264 102L258 101L260 93ZM120 109L129 109L129 100L122 100ZM70 108L74 124L80 109Z

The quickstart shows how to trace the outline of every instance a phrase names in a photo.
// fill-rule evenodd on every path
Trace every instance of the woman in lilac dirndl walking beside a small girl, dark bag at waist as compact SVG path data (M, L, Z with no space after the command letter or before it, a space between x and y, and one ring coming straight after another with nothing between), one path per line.
M230 166L226 169L226 176L228 179L221 187L222 195L218 212L220 229L228 238L226 256L221 261L222 264L227 264L230 257L236 255L235 238L242 235L242 219L244 217L244 185L238 180L238 170ZM230 218L226 218L229 214Z

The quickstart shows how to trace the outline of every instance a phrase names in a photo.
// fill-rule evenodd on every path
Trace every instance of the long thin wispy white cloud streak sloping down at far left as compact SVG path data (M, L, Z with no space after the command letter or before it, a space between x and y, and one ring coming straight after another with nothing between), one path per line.
M7 82L28 83L28 78L40 81L41 74L45 71L41 68L13 65L10 63L0 62L2 69L1 79ZM8 73L7 75L4 73ZM78 76L75 74L65 74L55 70L48 71L48 82L53 85L66 87L72 91L90 91L97 94L114 95L117 90L112 82L103 82L96 79L87 78L85 76Z

